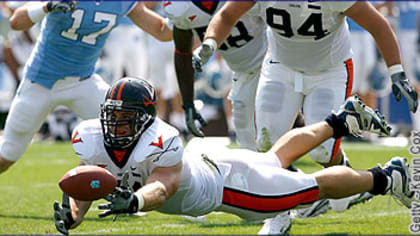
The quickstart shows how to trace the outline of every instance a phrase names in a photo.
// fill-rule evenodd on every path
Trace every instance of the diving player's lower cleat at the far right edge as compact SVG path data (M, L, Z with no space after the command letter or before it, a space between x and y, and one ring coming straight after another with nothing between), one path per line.
M388 175L388 189L386 193L398 201L400 201L407 208L411 208L411 202L414 200L414 192L410 191L410 172L408 171L407 159L402 157L393 157L382 169Z

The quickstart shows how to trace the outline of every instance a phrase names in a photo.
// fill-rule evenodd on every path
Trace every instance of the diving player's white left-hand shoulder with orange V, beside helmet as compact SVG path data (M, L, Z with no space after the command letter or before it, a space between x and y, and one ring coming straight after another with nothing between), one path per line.
M99 145L103 145L102 128L99 119L82 121L73 130L71 143L80 159L91 159Z

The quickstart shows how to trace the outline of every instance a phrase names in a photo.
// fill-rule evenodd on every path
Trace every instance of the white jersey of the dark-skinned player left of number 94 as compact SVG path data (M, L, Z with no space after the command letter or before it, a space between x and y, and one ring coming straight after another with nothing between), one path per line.
M218 1L165 1L163 6L166 15L177 28L192 30L203 40L211 18L223 4ZM239 20L219 48L219 53L233 71L250 72L262 64L267 40L264 22L258 14L256 9L251 9Z

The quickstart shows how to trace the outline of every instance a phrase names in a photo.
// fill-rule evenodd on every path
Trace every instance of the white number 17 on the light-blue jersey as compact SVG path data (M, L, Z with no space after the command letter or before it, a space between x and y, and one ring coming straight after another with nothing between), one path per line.
M73 14L71 14L71 17L73 18L73 25L69 29L63 30L61 32L61 36L71 40L77 40L79 38L79 35L76 33L76 31L80 28L80 25L82 24L84 13L85 11L82 9L77 9L76 11L74 11ZM93 21L98 24L107 21L108 24L102 29L90 33L88 35L84 35L82 37L81 41L90 45L95 45L96 38L99 35L106 34L112 29L115 23L117 23L117 15L104 12L96 12Z

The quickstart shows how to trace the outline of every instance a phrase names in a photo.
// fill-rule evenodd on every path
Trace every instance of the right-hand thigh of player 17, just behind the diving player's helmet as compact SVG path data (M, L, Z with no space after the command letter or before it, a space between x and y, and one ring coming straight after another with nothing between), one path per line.
M72 89L76 98L68 106L84 120L98 118L108 89L109 85L99 75L93 74Z

